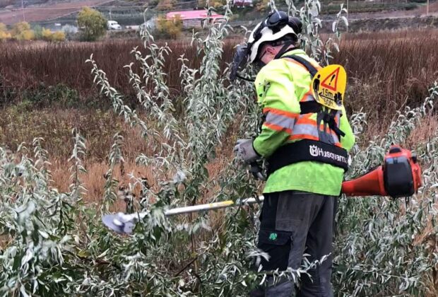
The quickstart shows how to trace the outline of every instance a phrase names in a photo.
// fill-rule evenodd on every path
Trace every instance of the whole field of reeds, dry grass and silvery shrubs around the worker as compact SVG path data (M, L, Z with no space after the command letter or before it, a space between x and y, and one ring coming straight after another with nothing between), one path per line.
M30 291L35 280L40 296L242 296L261 281L247 269L260 256L257 208L162 216L162 207L261 190L232 155L256 126L252 86L230 86L222 73L240 40L222 47L218 32L194 45L169 40L168 54L165 41L148 36L148 50L138 40L0 43L0 144L8 148L0 151L0 210L12 218L0 218L0 231L14 238L0 252L0 293ZM333 54L348 72L345 105L357 133L348 177L380 163L391 143L418 151L425 169L412 202L341 199L338 296L436 296L437 42L438 30L348 34ZM96 64L85 63L91 54ZM136 194L134 208L150 213L134 235L117 236L98 218L124 211L117 192L126 189ZM22 248L28 242L34 250ZM35 261L21 260L26 252Z

